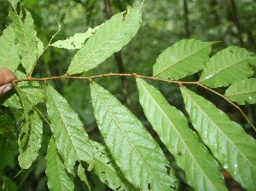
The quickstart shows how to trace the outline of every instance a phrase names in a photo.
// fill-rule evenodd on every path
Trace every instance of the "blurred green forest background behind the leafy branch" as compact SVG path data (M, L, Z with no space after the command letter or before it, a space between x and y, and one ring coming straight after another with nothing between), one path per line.
M51 36L58 30L55 15L61 24L61 32L55 39L65 39L73 36L74 33L86 32L88 27L101 25L108 20L111 15L117 14L129 7L135 7L141 1L137 0L23 0L22 1L34 19L34 26L44 44L49 42ZM3 29L9 24L8 1L0 0L0 35ZM108 6L110 5L110 6ZM221 41L214 45L212 55L220 49L230 45L237 45L255 52L256 49L256 2L253 0L157 0L146 1L143 4L143 22L137 35L128 43L118 55L111 56L104 61L106 64L96 67L87 72L87 75L95 75L108 72L127 72L152 76L152 67L160 53L183 38L195 38L201 41ZM47 49L35 68L34 75L59 76L66 72L75 51L50 48ZM255 77L255 74L254 76ZM188 78L198 80L199 76L192 75ZM142 107L137 104L138 92L132 78L98 78L96 82L108 89L119 101L129 107L137 118L148 127L144 117ZM189 80L188 80L189 81ZM73 109L79 113L80 119L84 122L84 128L94 140L101 142L96 128L96 119L92 113L90 103L90 93L82 89L84 82L72 80L55 80L55 90L61 93ZM154 84L154 82L153 82ZM126 89L125 94L122 88ZM172 106L184 111L182 97L177 86L166 86L158 84L158 88ZM196 87L194 87L196 89ZM200 94L212 101L218 108L229 114L230 119L241 124L247 133L255 137L255 132L247 124L235 107L230 106L226 101L219 100L205 91L200 90ZM222 90L219 89L221 92ZM168 96L169 95L169 96ZM172 96L170 96L172 95ZM9 113L9 108L0 107L4 112ZM256 106L241 106L255 126ZM16 111L17 112L17 111ZM12 111L12 113L15 113ZM185 113L185 112L184 112ZM19 123L16 122L16 123ZM153 134L154 131L148 130ZM47 178L45 177L46 146L49 142L49 130L44 130L44 139L38 159L32 167L15 178L16 187L19 190L46 190ZM50 135L50 134L49 134ZM9 134L9 140L12 140ZM0 136L2 144L6 137ZM5 161L0 160L0 180L3 176L15 177L20 171L18 165L18 146L16 139L13 139L13 148L9 157ZM45 143L45 144L44 144ZM1 146L0 144L0 146ZM0 148L1 149L1 148ZM165 148L163 147L163 150ZM2 153L1 153L2 154ZM172 159L172 156L169 156ZM1 159L1 156L0 156ZM178 167L177 167L178 168ZM182 171L178 177L183 177ZM241 189L230 177L226 177L227 184L231 189ZM93 182L96 190L107 190L107 186L101 183L98 178L90 174L90 182ZM77 180L76 190L86 190L83 182ZM1 189L1 188L0 188ZM189 186L183 182L181 190L189 190Z

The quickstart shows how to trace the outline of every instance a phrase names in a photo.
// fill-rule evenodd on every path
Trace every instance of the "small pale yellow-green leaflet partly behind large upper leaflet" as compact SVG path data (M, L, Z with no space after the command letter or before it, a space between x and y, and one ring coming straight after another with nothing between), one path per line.
M81 49L84 46L86 40L90 38L101 26L89 28L88 31L84 33L76 33L73 37L67 38L66 40L58 40L51 44L51 46L62 49Z

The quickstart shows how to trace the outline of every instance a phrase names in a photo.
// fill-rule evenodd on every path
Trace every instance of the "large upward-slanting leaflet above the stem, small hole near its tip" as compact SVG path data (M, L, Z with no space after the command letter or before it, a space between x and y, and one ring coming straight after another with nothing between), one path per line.
M141 25L141 9L128 9L115 14L88 39L74 56L68 74L86 72L118 52L137 33Z

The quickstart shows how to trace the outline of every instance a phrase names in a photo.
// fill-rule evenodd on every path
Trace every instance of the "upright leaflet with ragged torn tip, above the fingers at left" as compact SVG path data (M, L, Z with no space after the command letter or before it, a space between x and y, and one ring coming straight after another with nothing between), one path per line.
M22 10L17 14L15 10L10 11L9 17L13 21L12 26L17 39L17 47L21 56L21 64L25 68L26 73L32 72L34 65L38 59L38 46L42 46L42 42L37 38L37 32L33 26L32 15L25 9L26 18L23 20ZM39 45L38 45L39 43Z

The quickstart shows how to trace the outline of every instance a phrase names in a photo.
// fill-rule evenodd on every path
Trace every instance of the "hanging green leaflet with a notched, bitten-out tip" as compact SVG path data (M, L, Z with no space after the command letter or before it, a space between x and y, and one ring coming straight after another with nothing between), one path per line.
M73 173L76 160L84 160L92 165L93 153L84 125L65 98L50 85L46 86L46 107L56 148L67 171Z

